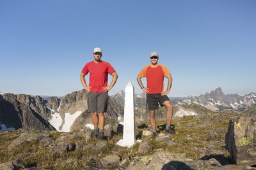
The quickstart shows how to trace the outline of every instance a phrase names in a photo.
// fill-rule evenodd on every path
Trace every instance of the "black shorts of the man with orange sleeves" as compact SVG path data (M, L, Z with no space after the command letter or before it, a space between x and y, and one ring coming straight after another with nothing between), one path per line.
M170 101L168 96L161 96L161 94L147 94L147 109L158 110L160 106L164 106L165 101ZM159 103L159 104L158 104Z

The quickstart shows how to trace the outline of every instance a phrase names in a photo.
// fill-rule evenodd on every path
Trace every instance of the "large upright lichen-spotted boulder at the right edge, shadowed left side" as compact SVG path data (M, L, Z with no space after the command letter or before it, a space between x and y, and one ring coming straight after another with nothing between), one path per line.
M230 120L225 143L237 165L256 165L256 117L234 117Z

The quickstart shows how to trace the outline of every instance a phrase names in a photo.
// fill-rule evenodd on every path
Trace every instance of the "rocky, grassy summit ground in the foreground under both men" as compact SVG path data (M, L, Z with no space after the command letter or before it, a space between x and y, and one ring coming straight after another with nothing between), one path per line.
M148 121L137 122L141 143L131 148L116 145L122 133L111 124L104 140L88 129L4 131L0 169L256 169L256 125L250 113L175 118L175 135L164 134L165 121L157 120L156 139L150 139Z

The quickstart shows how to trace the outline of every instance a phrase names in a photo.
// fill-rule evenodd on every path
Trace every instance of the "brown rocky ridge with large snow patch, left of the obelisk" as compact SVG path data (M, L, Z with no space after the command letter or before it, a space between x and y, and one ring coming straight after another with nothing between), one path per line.
M84 122L92 123L87 117L82 124L79 116L86 112L86 90L79 90L61 97L49 97L44 99L40 96L31 97L26 94L2 94L0 95L0 127L25 129L29 131L58 130L70 131L83 127ZM123 117L124 108L119 106L109 97L109 106L106 116L116 121ZM74 125L72 125L74 124ZM71 128L72 127L72 128ZM71 128L71 129L70 129ZM1 129L0 129L1 131Z

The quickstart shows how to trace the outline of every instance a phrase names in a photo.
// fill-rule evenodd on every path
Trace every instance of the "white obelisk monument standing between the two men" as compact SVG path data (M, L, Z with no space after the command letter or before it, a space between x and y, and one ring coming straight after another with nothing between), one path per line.
M135 143L135 139L134 87L129 81L125 87L123 139L116 145L130 147Z

